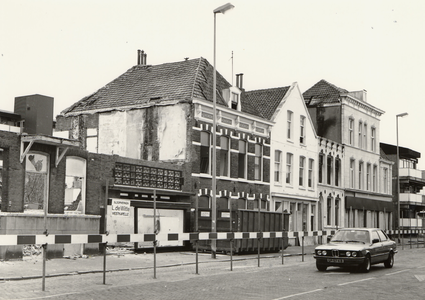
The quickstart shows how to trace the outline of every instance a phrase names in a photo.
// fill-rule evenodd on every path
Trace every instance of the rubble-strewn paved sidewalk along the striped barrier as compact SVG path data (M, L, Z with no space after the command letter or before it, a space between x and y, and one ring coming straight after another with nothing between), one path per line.
M311 255L315 246L305 246L304 254ZM284 251L284 257L302 255L300 246L290 246ZM277 257L280 253L262 253L261 258ZM257 259L257 254L233 255L233 260ZM103 272L102 255L83 256L74 258L58 258L46 261L46 277L70 276L84 273ZM199 253L198 263L230 261L230 255L217 254L211 258L210 253ZM156 255L157 268L181 266L196 263L196 253L161 252ZM135 254L131 251L111 251L106 255L106 271L119 272L140 269L152 269L154 266L153 253ZM42 277L43 256L25 256L22 260L0 261L0 281L26 280Z

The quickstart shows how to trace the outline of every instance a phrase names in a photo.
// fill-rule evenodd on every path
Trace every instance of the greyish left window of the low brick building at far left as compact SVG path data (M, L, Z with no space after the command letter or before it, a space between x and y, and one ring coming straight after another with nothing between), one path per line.
M25 157L24 209L46 209L48 199L49 156L30 152Z

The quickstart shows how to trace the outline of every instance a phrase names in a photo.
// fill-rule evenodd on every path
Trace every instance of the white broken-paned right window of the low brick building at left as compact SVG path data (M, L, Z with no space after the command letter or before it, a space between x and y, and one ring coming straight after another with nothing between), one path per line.
M85 213L85 190L86 161L79 157L68 156L65 173L65 213Z

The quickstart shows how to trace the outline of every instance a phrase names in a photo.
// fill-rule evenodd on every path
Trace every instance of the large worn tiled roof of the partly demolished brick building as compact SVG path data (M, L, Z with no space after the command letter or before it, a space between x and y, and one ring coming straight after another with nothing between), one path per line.
M61 114L132 109L193 98L212 101L213 71L213 66L202 57L160 65L136 65ZM230 86L217 72L217 91ZM217 92L217 105L226 105L220 92Z

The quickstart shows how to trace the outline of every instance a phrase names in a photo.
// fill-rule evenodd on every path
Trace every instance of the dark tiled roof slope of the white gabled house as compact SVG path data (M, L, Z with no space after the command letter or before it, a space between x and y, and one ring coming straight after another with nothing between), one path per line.
M289 88L285 86L245 92L245 102L250 103L264 118L271 120Z

